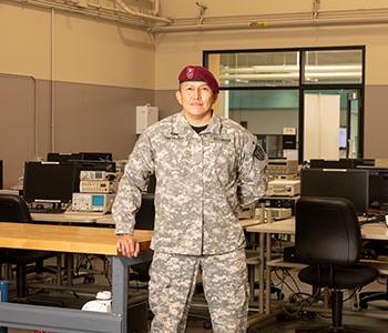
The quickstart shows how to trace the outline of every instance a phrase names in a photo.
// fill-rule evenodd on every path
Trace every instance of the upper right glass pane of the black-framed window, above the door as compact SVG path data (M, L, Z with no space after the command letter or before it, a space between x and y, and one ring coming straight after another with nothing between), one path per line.
M304 83L363 83L363 50L306 51Z

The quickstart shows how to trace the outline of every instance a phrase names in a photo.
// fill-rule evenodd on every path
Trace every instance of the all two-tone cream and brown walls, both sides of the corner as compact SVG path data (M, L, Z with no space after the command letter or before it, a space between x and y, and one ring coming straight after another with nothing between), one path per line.
M161 0L161 16L196 18L195 0ZM207 17L297 13L308 0L204 1ZM321 0L320 10L387 7L385 0ZM24 160L48 151L109 150L124 159L136 140L135 105L180 109L174 91L203 50L366 46L365 155L388 157L381 140L388 93L388 26L162 33L11 1L0 3L0 159L6 185ZM35 123L35 120L38 122Z

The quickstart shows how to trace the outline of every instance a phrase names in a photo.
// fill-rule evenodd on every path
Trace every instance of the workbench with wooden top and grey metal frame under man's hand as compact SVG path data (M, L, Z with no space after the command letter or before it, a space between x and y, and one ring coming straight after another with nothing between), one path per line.
M0 223L0 248L105 254L112 260L112 313L0 302L0 326L61 333L126 333L127 265L150 261L151 231L136 231L137 258L118 255L112 229Z

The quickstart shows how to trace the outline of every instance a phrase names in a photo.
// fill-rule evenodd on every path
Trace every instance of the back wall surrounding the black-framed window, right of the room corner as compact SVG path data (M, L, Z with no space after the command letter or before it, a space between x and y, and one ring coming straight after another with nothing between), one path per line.
M232 3L233 2L233 3ZM386 1L323 0L321 10L387 8ZM206 16L309 11L312 1L207 1ZM163 14L194 18L195 1L185 7L178 0L169 1ZM197 31L162 33L156 43L156 90L175 89L176 74L187 63L202 63L204 50L274 49L297 47L366 46L365 139L366 158L388 157L388 145L381 140L382 124L388 122L385 95L388 94L388 26L315 27L288 29L256 29L242 31Z

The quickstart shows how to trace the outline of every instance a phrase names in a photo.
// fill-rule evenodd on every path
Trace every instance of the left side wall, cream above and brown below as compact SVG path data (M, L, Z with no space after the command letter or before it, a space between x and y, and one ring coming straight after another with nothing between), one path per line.
M135 107L154 104L154 47L146 32L1 3L0 38L6 186L22 175L25 160L49 151L127 158Z

